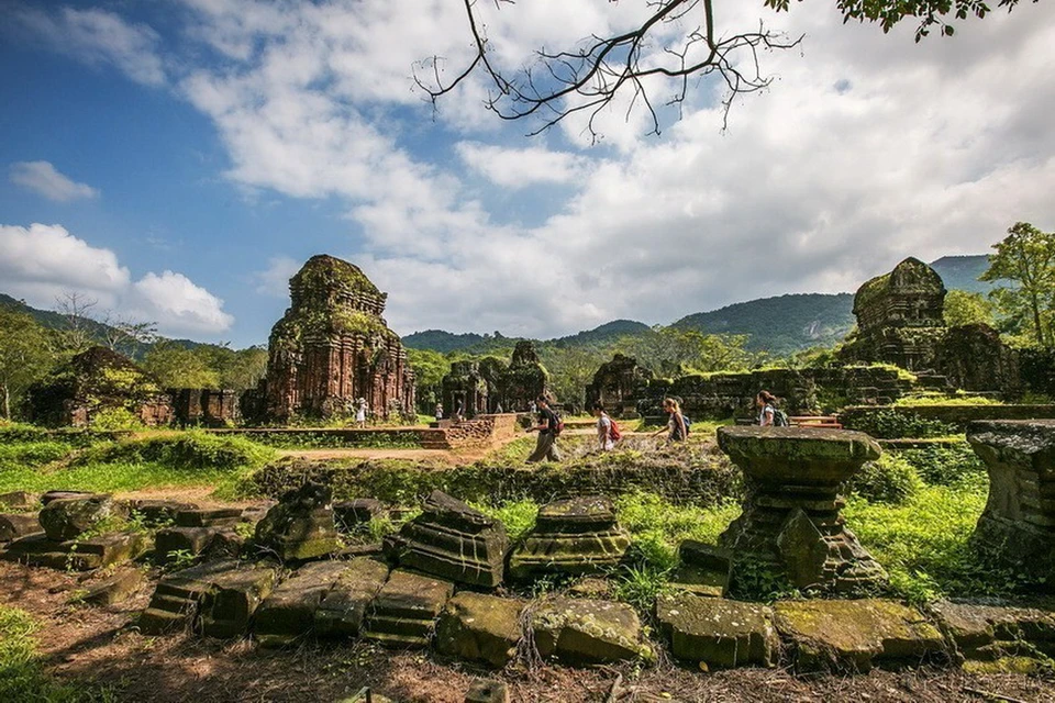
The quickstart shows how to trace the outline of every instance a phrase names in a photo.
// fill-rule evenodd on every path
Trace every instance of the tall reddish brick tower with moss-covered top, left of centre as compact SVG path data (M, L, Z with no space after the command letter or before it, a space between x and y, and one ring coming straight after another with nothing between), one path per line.
M358 267L320 254L289 279L292 304L268 341L271 420L414 412L414 378L399 335L381 313L387 294Z

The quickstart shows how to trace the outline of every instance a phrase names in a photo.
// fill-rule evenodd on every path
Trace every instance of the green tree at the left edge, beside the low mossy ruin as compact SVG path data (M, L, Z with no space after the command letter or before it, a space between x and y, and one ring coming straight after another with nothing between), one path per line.
M55 361L52 338L32 316L0 308L0 397L11 420L12 400L44 377Z

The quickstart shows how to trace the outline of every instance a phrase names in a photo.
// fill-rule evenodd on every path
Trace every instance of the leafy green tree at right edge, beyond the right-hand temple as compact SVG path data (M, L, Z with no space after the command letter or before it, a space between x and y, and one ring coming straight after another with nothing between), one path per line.
M1055 312L1055 233L1042 232L1028 222L1017 222L1008 236L992 245L984 281L1007 279L1014 286L990 293L1010 321L1028 327L1032 339L1052 347L1051 315Z

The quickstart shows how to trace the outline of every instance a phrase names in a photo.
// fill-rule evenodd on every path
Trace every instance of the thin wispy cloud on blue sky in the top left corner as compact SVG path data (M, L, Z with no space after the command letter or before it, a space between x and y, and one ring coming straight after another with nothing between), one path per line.
M146 86L165 82L157 54L159 36L145 24L131 24L106 10L62 8L45 12L20 8L12 15L25 38L91 66L113 66Z

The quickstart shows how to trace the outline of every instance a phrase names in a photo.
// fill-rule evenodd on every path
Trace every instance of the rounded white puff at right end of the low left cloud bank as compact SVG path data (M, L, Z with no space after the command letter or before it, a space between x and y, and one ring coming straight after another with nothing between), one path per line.
M234 316L223 301L174 271L147 274L129 292L127 306L140 317L157 322L163 334L215 334L231 328Z

